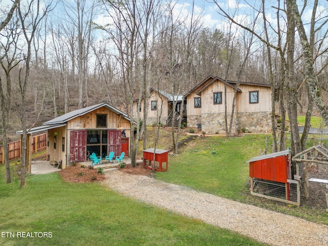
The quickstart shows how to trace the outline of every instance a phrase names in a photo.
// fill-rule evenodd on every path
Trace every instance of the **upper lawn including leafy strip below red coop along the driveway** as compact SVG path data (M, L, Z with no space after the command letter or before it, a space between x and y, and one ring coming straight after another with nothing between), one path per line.
M269 135L269 153L271 139ZM181 148L178 155L170 157L168 171L156 173L156 178L328 225L328 213L324 209L290 206L250 194L246 161L259 156L264 148L265 134L195 139Z

